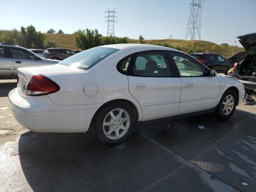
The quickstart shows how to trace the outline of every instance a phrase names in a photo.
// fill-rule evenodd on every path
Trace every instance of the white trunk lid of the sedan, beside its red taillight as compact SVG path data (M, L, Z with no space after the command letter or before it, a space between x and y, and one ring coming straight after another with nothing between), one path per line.
M34 75L56 74L56 73L70 74L70 73L84 73L84 72L85 71L82 69L72 68L69 66L64 66L59 64L18 68L18 77L19 77L19 81L17 84L18 92L24 98L29 97L26 95L26 89L32 76Z

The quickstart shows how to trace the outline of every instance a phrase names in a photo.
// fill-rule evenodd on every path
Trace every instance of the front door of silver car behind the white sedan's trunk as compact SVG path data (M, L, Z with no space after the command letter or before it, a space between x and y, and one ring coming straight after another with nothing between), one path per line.
M44 61L40 58L36 59L34 54L28 52L22 48L11 47L10 51L12 52L12 62L14 65L14 76L17 75L19 67L28 67L28 66L38 66L44 65Z

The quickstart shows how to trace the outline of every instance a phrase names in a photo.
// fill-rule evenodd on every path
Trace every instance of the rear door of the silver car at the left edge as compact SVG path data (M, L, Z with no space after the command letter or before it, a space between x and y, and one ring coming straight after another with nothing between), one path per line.
M9 48L0 46L0 77L12 77L13 68L12 54Z

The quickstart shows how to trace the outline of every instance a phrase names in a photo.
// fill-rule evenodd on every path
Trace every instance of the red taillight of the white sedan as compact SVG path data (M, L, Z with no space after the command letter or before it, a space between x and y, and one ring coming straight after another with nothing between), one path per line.
M60 86L43 75L34 75L28 83L26 95L41 96L55 93Z

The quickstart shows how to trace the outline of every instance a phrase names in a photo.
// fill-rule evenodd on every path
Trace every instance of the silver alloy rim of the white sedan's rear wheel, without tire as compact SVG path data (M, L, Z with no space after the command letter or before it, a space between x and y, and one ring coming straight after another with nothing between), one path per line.
M126 134L130 126L130 116L124 109L117 108L110 111L103 122L103 132L109 139L120 139Z

